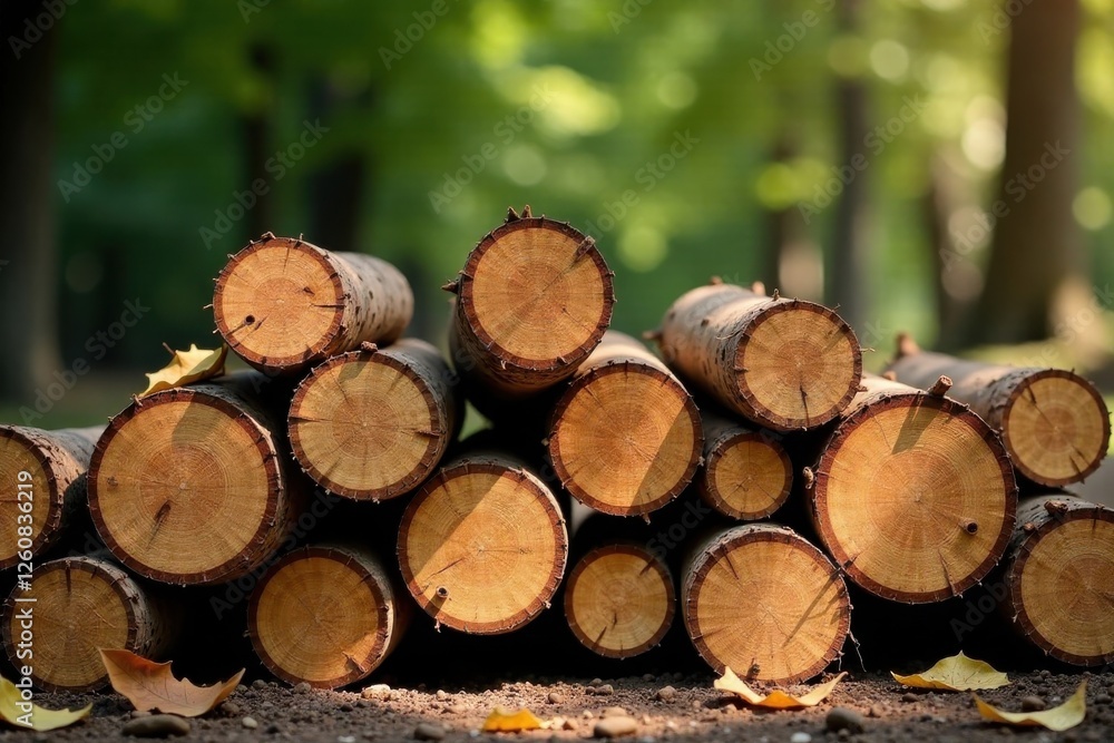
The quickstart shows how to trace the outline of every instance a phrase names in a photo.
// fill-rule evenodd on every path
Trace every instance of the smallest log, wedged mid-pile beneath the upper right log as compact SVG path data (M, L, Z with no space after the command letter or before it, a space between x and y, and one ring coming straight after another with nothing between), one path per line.
M781 508L793 487L793 465L778 437L701 412L704 469L697 477L701 498L734 519L753 521Z

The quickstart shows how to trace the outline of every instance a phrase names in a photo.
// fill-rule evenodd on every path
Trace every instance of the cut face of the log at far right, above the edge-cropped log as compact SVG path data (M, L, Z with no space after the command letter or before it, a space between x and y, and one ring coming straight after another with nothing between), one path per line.
M1098 391L1069 371L1027 375L1010 393L1001 417L1001 437L1014 466L1048 487L1094 472L1106 456L1110 436L1110 411Z

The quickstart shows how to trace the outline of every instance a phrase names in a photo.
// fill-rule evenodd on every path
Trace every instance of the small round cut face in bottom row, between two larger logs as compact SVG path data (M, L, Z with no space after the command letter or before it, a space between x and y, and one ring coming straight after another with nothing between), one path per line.
M634 545L613 545L577 563L565 589L565 618L593 653L626 658L661 643L676 596L668 568Z

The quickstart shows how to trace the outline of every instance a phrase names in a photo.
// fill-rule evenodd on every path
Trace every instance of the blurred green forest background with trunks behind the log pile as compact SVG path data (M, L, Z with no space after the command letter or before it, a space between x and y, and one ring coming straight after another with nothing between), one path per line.
M839 304L872 369L909 330L1114 390L1114 0L0 16L2 420L102 421L164 342L216 343L212 280L265 231L394 262L443 345L441 283L527 203L596 236L628 332L761 280Z

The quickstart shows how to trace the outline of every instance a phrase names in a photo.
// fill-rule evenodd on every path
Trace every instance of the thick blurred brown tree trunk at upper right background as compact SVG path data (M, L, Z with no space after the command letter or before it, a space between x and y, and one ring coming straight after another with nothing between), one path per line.
M1072 215L1079 159L1078 32L1078 0L1026 4L1010 23L1006 159L986 215L994 241L986 289L968 319L968 345L1051 335L1057 294L1082 268Z

